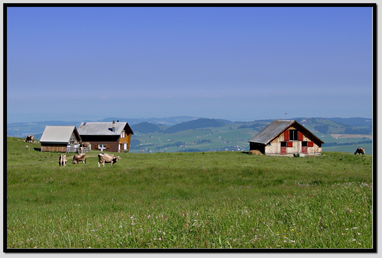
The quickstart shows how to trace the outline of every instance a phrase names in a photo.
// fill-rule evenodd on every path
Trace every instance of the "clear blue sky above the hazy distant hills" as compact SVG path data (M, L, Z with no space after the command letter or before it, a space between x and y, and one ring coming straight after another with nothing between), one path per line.
M372 117L371 7L8 7L6 29L7 123Z

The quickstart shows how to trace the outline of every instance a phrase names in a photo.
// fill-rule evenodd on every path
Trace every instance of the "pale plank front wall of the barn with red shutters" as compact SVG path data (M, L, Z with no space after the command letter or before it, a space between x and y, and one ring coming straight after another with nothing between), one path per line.
M321 148L321 143L317 145L317 142L314 142L314 139L308 131L305 129L299 127L297 128L296 125L292 125L291 127L288 128L290 129L297 129L300 132L303 132L303 141L313 141L313 147L308 147L308 153L315 153L319 154L322 152ZM281 149L281 142L284 141L284 132L282 132L278 137L276 137L274 140L272 140L270 146L265 146L265 154L281 154L280 149ZM292 153L301 153L301 141L292 141L293 142L293 147L286 147L286 154L292 154Z

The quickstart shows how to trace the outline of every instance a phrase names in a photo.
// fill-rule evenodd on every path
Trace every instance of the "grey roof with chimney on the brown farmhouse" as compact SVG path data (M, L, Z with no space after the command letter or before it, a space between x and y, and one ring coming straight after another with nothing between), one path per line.
M80 135L120 135L125 132L134 134L126 122L115 122L115 132L113 132L113 123L111 122L82 122L78 127Z

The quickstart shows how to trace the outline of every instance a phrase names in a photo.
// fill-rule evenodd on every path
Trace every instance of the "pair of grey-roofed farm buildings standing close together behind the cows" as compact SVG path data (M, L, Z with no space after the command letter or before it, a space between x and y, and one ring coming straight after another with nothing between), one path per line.
M81 143L88 151L129 152L134 132L126 122L83 122L76 126L46 126L41 136L42 152L78 152ZM82 146L82 145L81 145Z

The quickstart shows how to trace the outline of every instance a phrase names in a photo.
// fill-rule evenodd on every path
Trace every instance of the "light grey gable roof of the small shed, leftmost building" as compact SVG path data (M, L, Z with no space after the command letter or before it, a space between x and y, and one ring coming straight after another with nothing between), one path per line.
M73 134L78 141L81 137L77 131L76 126L45 126L45 130L41 135L40 143L68 143Z

